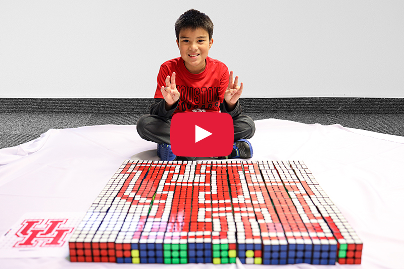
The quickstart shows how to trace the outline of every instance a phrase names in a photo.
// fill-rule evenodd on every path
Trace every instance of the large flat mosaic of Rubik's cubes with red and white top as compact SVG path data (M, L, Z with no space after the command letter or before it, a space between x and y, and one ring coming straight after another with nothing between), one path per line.
M359 264L363 243L306 165L125 160L71 261Z

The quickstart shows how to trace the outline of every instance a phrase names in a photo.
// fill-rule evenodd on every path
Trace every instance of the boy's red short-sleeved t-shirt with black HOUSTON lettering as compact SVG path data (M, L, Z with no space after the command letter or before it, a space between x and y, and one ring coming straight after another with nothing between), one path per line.
M155 98L164 98L161 87L166 87L166 78L175 72L175 84L180 99L175 113L179 112L220 112L224 93L229 85L229 69L222 62L206 58L206 68L200 74L192 74L179 57L161 65L157 76Z

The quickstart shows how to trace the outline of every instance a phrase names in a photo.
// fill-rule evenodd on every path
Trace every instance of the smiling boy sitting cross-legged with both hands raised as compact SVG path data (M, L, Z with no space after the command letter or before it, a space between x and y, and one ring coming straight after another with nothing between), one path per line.
M155 102L150 115L137 123L140 137L158 143L157 155L162 160L193 160L176 156L171 151L170 124L176 113L223 112L233 118L234 144L230 155L219 158L250 158L251 144L246 140L255 133L251 118L241 115L238 102L243 84L225 64L208 57L213 44L213 23L204 13L186 11L175 22L177 46L181 57L165 62L157 77Z

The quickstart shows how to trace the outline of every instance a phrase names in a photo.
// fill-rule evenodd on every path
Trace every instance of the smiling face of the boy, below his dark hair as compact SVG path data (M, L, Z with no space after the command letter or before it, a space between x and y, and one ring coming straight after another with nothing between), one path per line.
M213 38L209 40L208 31L202 28L182 29L178 39L177 45L186 69L193 74L203 72L206 67L205 60L213 44Z

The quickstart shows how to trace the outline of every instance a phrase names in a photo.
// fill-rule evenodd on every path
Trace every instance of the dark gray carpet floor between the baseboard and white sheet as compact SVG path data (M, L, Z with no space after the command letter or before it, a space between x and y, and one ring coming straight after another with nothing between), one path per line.
M306 124L340 124L384 134L404 136L404 114L383 113L244 113L253 120L282 119ZM134 125L144 114L0 113L0 148L16 146L38 138L49 129L93 125Z

